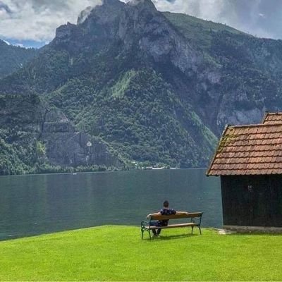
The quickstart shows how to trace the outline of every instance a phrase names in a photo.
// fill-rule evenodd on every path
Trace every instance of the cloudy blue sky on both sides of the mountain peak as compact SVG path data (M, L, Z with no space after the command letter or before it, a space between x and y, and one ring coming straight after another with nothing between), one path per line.
M87 6L102 0L0 0L0 39L41 47L56 27L76 23ZM128 0L123 0L128 1ZM226 23L257 37L282 39L282 0L152 0L159 11Z

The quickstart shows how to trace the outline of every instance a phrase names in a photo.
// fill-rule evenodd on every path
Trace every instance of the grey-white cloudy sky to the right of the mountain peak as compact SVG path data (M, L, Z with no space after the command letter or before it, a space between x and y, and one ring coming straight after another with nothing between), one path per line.
M281 0L155 0L160 11L226 23L258 37L282 39Z

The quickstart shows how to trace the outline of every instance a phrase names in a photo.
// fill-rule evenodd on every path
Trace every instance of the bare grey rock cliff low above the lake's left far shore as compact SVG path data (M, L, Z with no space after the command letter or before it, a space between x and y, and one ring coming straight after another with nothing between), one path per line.
M56 109L48 111L42 123L40 140L46 146L46 157L59 166L122 166L117 154L98 138L75 130L71 121Z

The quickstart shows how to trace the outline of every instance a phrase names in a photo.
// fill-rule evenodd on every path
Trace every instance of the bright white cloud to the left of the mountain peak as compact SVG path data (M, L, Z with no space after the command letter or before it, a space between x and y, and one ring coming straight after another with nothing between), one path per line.
M48 42L56 27L101 0L0 0L0 37Z

